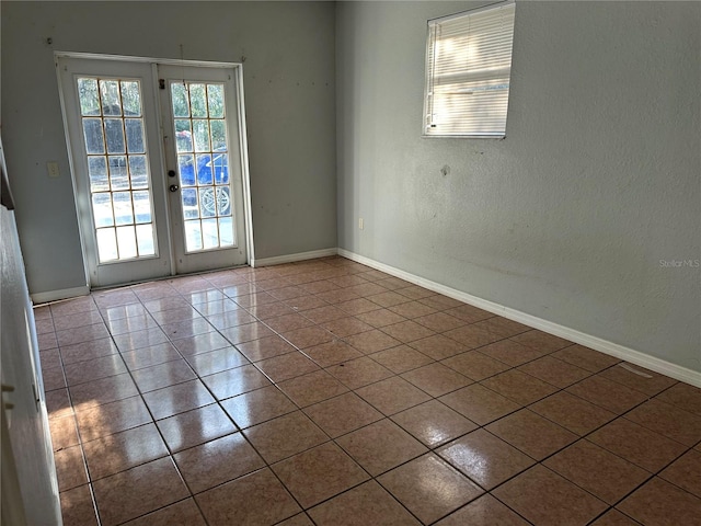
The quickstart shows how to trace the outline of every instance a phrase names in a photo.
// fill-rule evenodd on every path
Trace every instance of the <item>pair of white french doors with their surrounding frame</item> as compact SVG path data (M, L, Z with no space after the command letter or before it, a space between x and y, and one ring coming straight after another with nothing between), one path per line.
M57 68L90 285L246 263L237 67L61 55Z

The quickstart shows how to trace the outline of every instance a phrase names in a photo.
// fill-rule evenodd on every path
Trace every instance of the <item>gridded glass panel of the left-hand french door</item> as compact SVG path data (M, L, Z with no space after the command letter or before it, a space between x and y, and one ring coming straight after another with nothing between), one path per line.
M99 261L152 258L156 228L140 81L83 77L77 84Z

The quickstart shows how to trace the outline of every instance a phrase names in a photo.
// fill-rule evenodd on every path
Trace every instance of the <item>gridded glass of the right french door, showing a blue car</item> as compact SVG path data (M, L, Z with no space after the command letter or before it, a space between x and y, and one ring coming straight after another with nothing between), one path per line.
M235 247L223 84L172 81L170 90L185 251Z

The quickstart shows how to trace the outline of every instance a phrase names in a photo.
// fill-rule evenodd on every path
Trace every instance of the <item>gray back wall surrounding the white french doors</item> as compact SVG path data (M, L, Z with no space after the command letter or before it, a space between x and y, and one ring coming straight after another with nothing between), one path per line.
M2 133L33 294L84 285L54 50L244 62L256 259L336 247L331 2L2 2ZM48 45L46 38L51 37ZM57 160L61 176L48 179Z

